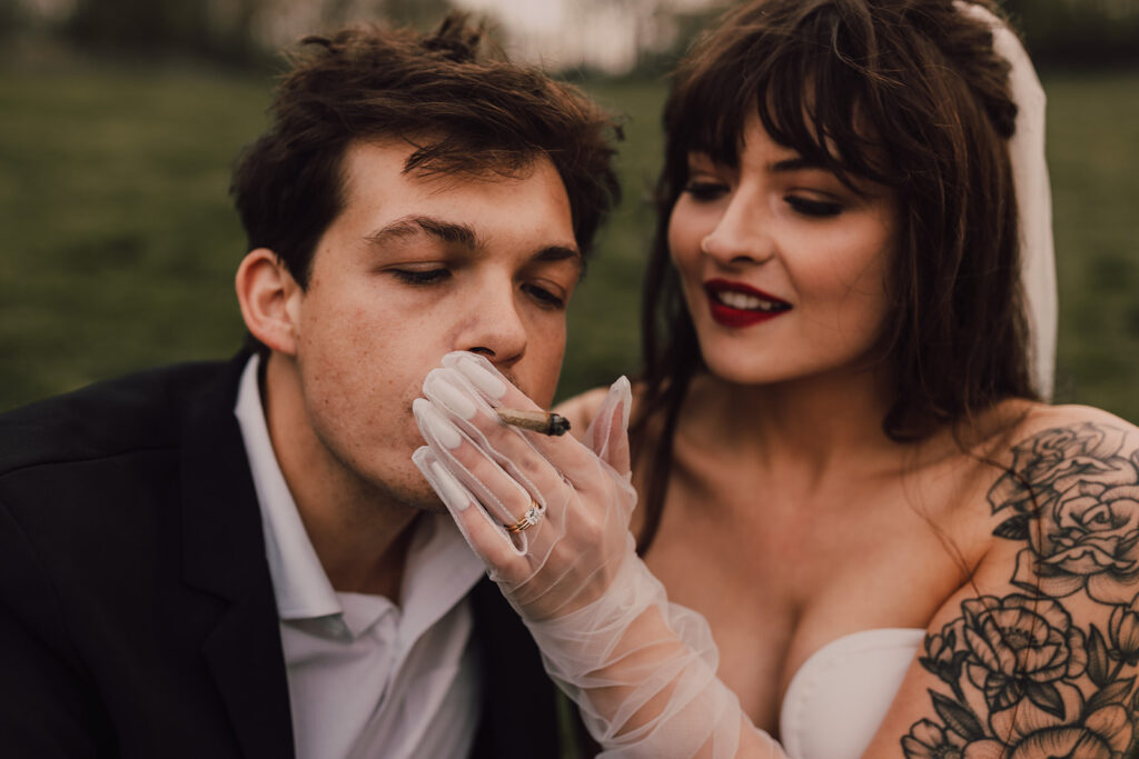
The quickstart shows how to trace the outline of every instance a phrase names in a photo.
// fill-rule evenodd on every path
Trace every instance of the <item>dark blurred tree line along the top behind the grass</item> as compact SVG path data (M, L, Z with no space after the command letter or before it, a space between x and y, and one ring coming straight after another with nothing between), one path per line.
M646 41L633 76L669 69L691 35L727 3L710 0L706 8L689 11L665 5L658 13L671 16L671 40ZM1002 5L1024 31L1039 67L1139 65L1139 0ZM377 18L429 28L450 6L450 0L0 0L0 38L38 36L96 55L257 67L304 32Z

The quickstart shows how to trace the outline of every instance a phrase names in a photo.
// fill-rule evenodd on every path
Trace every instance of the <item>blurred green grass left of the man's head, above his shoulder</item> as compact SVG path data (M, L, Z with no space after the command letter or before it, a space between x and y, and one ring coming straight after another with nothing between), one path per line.
M0 73L0 409L233 353L229 166L267 90L200 71Z

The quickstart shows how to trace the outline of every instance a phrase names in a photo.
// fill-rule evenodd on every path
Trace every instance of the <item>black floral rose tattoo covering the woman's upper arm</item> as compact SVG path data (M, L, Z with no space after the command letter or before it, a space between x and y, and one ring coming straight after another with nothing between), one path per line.
M1139 757L1139 451L1084 422L1013 448L989 490L993 535L1023 544L1018 592L961 603L920 665L937 719L902 737L918 757ZM1064 600L1090 616L1073 619ZM1090 603L1089 603L1090 602ZM1099 624L1097 625L1096 621Z

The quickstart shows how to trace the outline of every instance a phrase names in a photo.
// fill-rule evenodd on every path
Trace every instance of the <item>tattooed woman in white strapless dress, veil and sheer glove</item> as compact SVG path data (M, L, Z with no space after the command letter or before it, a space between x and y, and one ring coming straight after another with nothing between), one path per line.
M988 3L730 14L666 107L646 379L563 410L605 464L497 424L489 363L425 382L417 462L613 756L1137 750L1139 430L1040 402L1010 41Z

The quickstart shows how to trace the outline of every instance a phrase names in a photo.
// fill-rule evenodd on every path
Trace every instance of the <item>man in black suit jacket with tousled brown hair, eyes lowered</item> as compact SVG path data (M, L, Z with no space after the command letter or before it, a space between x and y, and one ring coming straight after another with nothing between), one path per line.
M558 751L410 406L454 349L551 401L612 125L459 18L306 43L235 172L254 350L0 418L5 756Z

